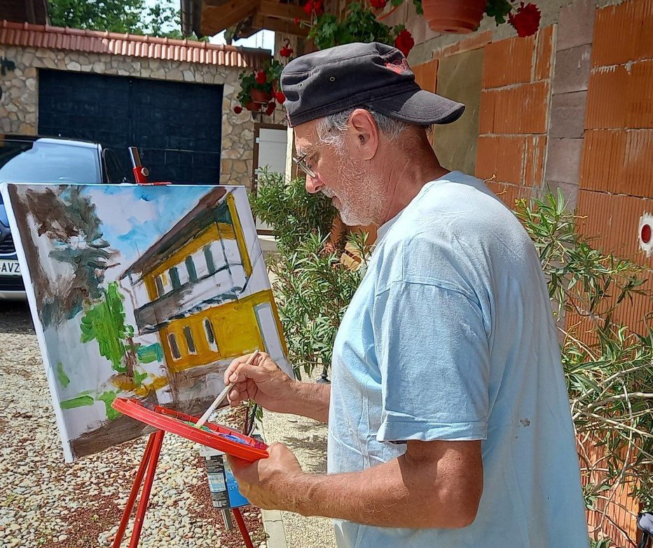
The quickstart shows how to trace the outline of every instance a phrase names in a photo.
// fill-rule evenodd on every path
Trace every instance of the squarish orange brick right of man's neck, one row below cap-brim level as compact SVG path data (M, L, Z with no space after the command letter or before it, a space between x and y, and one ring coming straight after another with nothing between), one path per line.
M476 144L476 177L523 184L525 137L481 135Z

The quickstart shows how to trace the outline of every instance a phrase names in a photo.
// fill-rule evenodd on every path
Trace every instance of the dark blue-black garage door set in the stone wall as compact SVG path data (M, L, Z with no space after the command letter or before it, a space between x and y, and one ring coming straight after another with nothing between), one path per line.
M111 147L128 172L138 146L151 181L218 184L222 86L39 71L39 135Z

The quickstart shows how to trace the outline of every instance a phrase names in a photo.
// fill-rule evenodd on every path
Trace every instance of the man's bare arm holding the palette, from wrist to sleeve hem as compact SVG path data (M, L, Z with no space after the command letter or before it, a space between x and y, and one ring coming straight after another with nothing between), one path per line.
M479 478L460 478L448 467L425 467L402 455L348 474L306 474L284 480L286 507L305 516L325 516L381 527L458 528L472 523ZM481 472L482 486L482 472ZM478 493L478 498L475 496Z

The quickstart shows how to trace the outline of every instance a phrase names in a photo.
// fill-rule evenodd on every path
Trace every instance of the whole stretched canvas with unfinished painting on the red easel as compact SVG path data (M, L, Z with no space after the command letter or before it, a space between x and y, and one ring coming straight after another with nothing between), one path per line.
M245 188L1 192L67 461L149 431L118 396L201 415L257 348L291 374Z

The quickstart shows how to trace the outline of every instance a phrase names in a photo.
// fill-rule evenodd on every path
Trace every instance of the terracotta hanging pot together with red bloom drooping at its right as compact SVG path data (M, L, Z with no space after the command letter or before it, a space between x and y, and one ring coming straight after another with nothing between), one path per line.
M530 36L541 17L535 4L516 0L422 0L422 9L430 29L458 34L474 32L486 13L497 25L508 20L518 36Z

